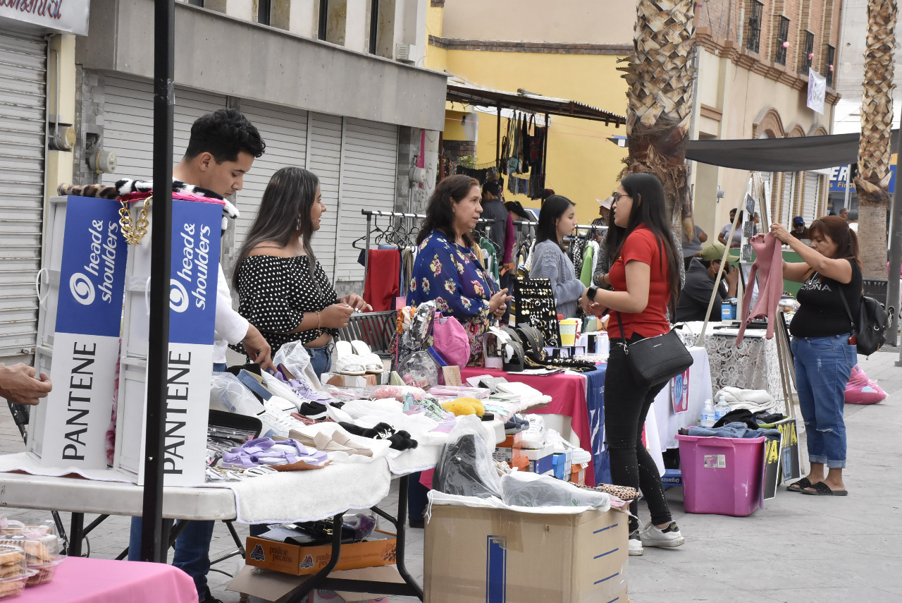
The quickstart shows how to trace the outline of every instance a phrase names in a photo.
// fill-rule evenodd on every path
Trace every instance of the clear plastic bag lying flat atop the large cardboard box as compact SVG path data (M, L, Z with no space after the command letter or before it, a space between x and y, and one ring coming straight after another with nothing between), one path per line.
M575 487L551 476L514 471L502 476L502 500L510 506L591 506L602 511L611 507L605 492Z

